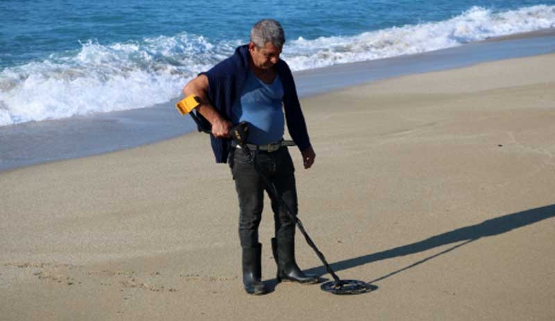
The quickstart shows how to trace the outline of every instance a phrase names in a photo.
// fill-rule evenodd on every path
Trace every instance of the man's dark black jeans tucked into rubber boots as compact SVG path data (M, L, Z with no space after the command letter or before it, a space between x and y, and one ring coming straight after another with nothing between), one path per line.
M282 147L273 153L262 150L255 159L264 175L275 185L284 203L297 215L297 191L295 187L295 169L287 147ZM264 191L268 186L255 170L255 166L248 162L244 151L232 148L230 168L235 181L235 189L239 198L239 239L242 248L254 248L258 244L258 225L262 220L264 208ZM275 223L275 237L293 240L295 223L287 214L287 210L280 207L278 200L268 193L271 199Z

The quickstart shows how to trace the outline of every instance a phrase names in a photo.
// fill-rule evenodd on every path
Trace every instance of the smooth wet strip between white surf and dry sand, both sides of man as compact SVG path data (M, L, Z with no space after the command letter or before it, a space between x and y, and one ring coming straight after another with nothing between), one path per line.
M388 78L552 52L555 52L553 28L490 38L450 49L339 64L293 74L300 98L307 98ZM6 144L0 146L3 155L0 172L155 144L194 132L195 128L189 117L181 117L175 112L173 102L142 110L3 126L0 138Z

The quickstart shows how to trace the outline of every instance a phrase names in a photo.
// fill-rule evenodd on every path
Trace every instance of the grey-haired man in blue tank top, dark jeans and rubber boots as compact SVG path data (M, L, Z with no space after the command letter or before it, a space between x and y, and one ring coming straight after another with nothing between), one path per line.
M248 122L249 148L256 162L278 189L285 204L297 214L294 168L287 147L282 146L284 123L302 154L305 168L314 163L304 116L291 70L280 60L285 42L278 21L258 21L250 32L248 45L191 80L183 93L195 95L198 113L212 125L211 143L216 162L229 162L239 198L239 239L242 248L243 282L247 293L266 293L261 278L258 226L262 218L266 185L248 157L234 146L230 128ZM272 248L278 264L278 281L314 284L317 277L305 275L295 261L295 224L271 194L275 221Z

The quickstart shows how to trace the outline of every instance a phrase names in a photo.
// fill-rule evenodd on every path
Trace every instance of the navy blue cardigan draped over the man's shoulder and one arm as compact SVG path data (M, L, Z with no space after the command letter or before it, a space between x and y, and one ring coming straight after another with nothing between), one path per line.
M248 75L249 69L249 55L248 45L239 46L235 53L216 64L209 71L200 73L208 78L208 98L212 106L216 108L219 114L228 121L231 121L232 106L237 99ZM305 123L305 116L302 115L300 110L300 103L297 96L297 89L293 80L293 74L286 62L278 60L275 64L275 70L280 76L283 85L283 105L285 111L285 119L287 120L287 129L289 134L298 148L302 151L310 147L310 140L307 132L307 125ZM202 119L202 116L199 118ZM209 123L203 119L206 125ZM216 163L225 163L228 161L228 154L230 150L230 139L216 138L210 135L210 142Z

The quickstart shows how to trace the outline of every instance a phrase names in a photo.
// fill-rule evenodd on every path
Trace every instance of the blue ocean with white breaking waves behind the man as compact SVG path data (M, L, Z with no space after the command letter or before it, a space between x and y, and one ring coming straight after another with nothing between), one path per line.
M300 71L553 28L555 0L1 0L0 126L167 103L265 17Z

